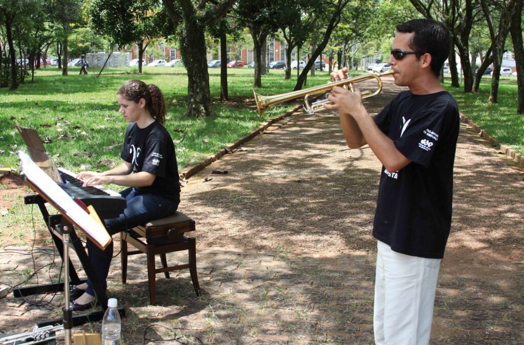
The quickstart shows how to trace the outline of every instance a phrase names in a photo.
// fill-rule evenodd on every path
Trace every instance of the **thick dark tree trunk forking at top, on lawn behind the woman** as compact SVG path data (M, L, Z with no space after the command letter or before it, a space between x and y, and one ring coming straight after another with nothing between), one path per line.
M209 2L201 0L162 0L170 21L180 26L180 52L188 71L188 110L186 116L214 115L209 89L208 63L205 54L206 28L217 23L235 0Z

